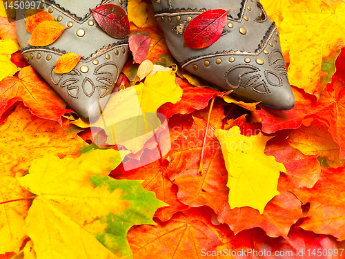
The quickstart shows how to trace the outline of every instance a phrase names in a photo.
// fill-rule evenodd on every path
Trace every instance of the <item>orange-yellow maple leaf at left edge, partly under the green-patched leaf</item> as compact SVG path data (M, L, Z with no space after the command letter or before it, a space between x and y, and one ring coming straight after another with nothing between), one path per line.
M17 107L0 125L0 202L23 199L30 193L23 189L15 175L28 170L32 160L53 153L61 157L77 157L86 143L76 136L80 130L64 122L34 119L26 108ZM30 201L0 204L0 254L18 251L24 237L24 219Z

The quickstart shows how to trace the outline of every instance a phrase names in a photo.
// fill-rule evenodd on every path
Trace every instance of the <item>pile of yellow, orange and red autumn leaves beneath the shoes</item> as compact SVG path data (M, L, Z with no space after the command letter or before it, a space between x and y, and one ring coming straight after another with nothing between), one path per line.
M129 1L135 62L115 87L127 102L104 115L121 121L135 97L166 116L170 151L144 166L161 135L122 147L92 137L23 59L1 3L0 258L345 258L345 3L262 3L281 33L290 111L181 70L150 1Z

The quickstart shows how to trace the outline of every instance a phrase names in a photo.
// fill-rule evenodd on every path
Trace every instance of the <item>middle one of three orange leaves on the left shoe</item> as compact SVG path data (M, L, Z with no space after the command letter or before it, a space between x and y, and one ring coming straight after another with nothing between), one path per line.
M57 21L43 21L34 28L29 44L31 46L48 46L59 38L61 33L65 30Z

